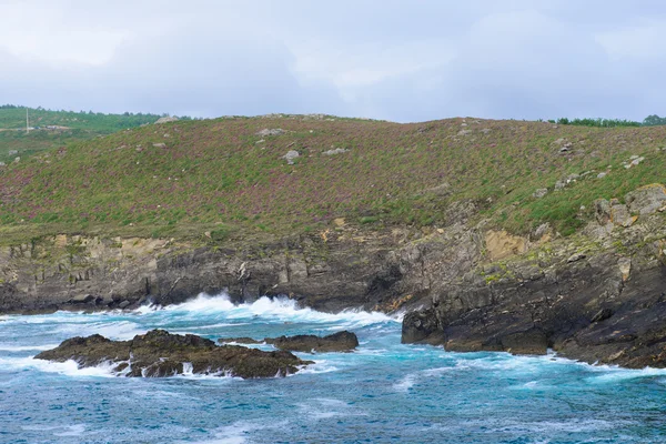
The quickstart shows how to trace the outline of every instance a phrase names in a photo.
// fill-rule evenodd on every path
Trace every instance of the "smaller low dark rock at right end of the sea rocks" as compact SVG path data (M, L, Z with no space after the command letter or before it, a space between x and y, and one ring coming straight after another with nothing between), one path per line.
M290 352L326 353L326 352L351 352L359 346L359 339L352 332L343 331L327 336L315 336L314 334L299 334L295 336L265 337L263 341L252 337L220 337L220 343L236 342L239 344L273 344L276 349Z

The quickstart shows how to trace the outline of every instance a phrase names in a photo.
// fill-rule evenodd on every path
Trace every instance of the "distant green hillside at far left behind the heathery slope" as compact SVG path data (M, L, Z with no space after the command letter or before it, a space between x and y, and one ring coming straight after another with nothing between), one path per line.
M33 130L26 133L26 108L0 107L0 161L10 162L18 155L24 159L37 152L63 147L71 142L89 140L122 129L152 123L155 114L102 114L73 111L29 109L30 125L58 125L67 130ZM19 131L16 131L19 130ZM18 154L9 154L10 151Z

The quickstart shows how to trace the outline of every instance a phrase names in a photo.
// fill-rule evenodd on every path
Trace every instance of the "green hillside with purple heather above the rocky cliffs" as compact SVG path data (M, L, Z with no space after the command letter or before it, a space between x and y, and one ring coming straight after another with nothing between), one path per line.
M123 131L6 169L0 233L4 242L54 232L250 236L317 230L339 216L369 229L436 226L451 202L472 199L496 226L526 232L547 221L568 234L592 216L595 199L666 181L666 127L465 121L240 118ZM256 135L265 128L289 132ZM559 138L572 153L559 152ZM332 148L350 151L322 153ZM289 165L282 157L292 149L302 155ZM623 168L634 154L646 160ZM426 191L443 183L451 194ZM535 199L538 188L551 191Z

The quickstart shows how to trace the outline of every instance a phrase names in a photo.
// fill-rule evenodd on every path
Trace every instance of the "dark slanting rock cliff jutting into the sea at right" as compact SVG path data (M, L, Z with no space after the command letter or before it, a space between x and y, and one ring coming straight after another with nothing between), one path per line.
M403 342L519 354L552 347L589 363L666 366L666 226L664 201L653 199L660 194L658 185L639 189L626 196L628 209L596 202L597 221L568 239L525 246L488 233L486 248L498 250L485 256L502 260L434 292L431 307L405 316ZM612 209L636 215L626 223Z

